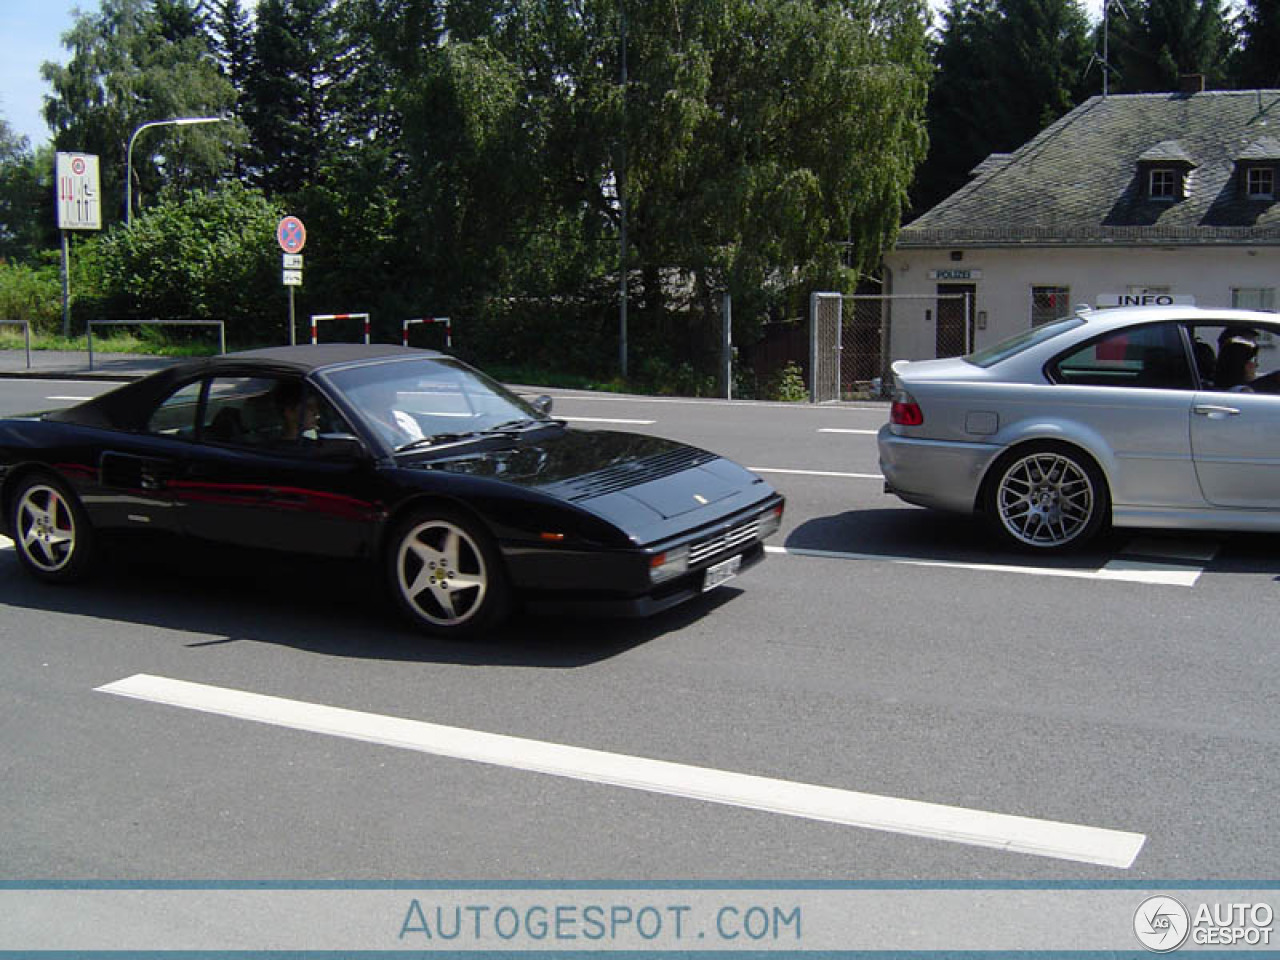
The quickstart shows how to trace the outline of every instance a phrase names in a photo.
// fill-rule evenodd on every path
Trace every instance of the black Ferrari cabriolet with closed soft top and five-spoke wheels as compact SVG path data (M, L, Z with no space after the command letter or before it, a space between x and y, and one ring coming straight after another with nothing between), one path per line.
M120 530L364 558L443 635L517 600L649 614L763 558L783 500L760 477L549 410L431 351L230 353L0 421L3 516L55 582Z

